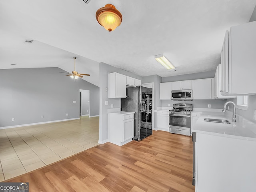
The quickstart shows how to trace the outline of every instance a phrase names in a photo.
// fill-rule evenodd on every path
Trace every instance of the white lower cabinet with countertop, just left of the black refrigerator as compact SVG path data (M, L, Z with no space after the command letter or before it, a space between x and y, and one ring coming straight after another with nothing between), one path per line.
M122 146L134 137L134 113L108 113L108 142Z

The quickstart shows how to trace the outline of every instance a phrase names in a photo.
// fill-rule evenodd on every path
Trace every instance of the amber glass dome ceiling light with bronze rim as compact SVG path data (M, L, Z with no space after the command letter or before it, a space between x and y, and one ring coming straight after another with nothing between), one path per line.
M114 31L122 22L122 14L112 4L106 4L96 12L96 19L109 32Z

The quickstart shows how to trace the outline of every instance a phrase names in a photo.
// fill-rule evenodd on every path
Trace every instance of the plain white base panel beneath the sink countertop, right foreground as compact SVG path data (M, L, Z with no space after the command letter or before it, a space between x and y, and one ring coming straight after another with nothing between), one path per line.
M195 191L255 191L255 149L256 141L196 133Z

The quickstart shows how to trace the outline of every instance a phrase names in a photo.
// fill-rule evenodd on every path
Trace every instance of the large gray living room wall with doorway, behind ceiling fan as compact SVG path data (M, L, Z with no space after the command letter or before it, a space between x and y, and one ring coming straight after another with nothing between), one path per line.
M79 89L90 90L91 115L99 115L99 87L80 78L74 82L59 72L65 71L0 70L0 127L79 118Z

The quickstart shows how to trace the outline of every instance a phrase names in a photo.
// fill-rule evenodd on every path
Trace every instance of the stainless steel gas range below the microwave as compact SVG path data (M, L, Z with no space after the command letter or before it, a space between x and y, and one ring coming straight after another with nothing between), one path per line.
M190 136L192 110L192 104L173 104L169 110L169 132Z

